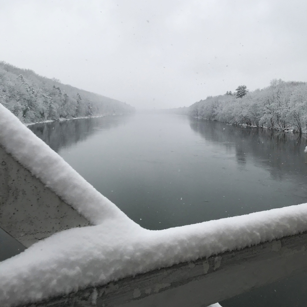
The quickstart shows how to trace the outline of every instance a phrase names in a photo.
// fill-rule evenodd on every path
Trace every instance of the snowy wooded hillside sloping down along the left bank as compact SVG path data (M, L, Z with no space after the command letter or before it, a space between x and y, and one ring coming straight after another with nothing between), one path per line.
M0 103L22 122L43 122L113 114L134 107L121 101L48 79L29 69L0 62Z

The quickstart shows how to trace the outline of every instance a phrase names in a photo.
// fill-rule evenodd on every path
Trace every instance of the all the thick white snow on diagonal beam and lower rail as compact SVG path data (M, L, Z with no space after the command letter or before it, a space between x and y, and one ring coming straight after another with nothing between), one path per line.
M1 306L34 302L307 231L307 204L147 230L102 196L1 104L0 145L95 224L56 233L0 262Z

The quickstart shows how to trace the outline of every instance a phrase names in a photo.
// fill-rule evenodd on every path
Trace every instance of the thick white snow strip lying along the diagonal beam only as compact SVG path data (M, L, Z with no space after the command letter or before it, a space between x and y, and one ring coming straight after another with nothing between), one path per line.
M0 145L91 223L106 219L133 223L1 103Z

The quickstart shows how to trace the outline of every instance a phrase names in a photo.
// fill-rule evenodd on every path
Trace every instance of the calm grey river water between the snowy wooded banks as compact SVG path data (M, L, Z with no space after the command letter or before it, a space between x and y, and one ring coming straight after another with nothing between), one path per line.
M306 136L163 114L29 128L148 229L307 202ZM220 303L306 306L306 284L302 273Z

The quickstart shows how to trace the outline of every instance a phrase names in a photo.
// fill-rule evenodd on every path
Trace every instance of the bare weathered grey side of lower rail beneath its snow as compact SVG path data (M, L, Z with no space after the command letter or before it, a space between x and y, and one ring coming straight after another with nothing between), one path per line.
M28 307L204 307L307 270L307 233L153 270Z

